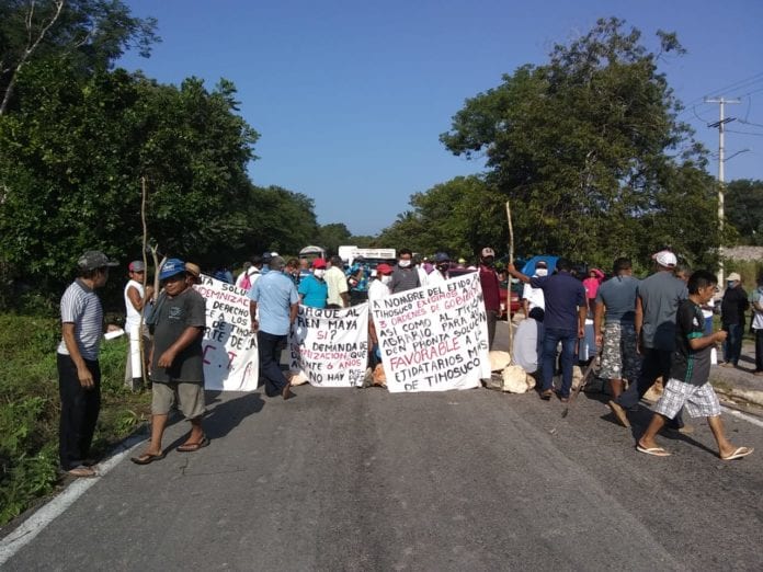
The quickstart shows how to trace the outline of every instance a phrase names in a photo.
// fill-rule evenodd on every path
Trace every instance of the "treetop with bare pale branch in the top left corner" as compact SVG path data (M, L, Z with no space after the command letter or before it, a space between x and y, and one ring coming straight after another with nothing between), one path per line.
M119 0L0 2L0 115L12 102L19 72L35 61L67 57L86 75L107 69L126 49L148 57L155 19L130 15Z

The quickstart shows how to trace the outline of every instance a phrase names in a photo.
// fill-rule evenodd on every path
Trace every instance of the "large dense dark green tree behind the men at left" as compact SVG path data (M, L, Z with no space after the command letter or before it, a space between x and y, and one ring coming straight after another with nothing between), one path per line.
M0 117L0 259L57 291L77 256L140 253L140 179L163 252L228 263L248 229L248 161L257 140L232 84L160 85L124 70L88 79L66 59L18 79L19 108Z

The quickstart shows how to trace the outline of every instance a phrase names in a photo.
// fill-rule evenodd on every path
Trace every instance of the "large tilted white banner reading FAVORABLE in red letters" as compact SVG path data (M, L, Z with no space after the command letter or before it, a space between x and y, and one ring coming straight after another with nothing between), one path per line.
M371 305L390 392L469 389L490 377L477 273Z

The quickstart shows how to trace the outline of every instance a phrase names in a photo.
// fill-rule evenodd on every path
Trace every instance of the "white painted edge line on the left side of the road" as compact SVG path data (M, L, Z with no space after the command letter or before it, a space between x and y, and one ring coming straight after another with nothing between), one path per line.
M91 479L77 479L60 494L56 495L49 503L45 504L36 513L24 520L19 528L0 540L0 567L30 544L34 538L42 533L57 516L61 515L77 499L82 496L84 492L95 484L101 477L105 476L110 470L116 467L133 448L146 441L145 436L135 436L125 441L115 453L104 462L96 466L98 477ZM122 449L122 450L119 450Z

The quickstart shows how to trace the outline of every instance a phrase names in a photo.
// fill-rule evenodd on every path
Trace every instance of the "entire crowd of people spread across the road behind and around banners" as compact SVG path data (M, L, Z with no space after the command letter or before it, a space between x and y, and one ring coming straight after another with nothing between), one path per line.
M750 297L738 274L729 275L722 296L722 330L708 328L707 311L716 295L716 277L705 271L695 273L677 264L675 254L661 251L653 256L657 272L644 281L633 276L628 259L617 259L613 276L604 279L592 271L581 281L572 264L558 259L554 272L539 261L532 276L512 264L506 273L525 284L525 320L514 340L515 362L540 380L539 394L555 394L557 359L561 384L556 390L561 401L570 399L572 368L578 344L584 336L587 318L593 318L595 344L601 348L600 376L608 379L610 407L624 425L628 413L641 397L662 378L664 392L654 409L649 428L639 439L639 451L668 456L654 442L665 423L677 431L691 431L681 411L706 416L722 459L736 459L752 453L736 447L724 436L718 399L708 382L710 352L724 343L725 364L738 366L745 312L751 306L751 327L755 332L755 375L763 375L763 275ZM59 454L61 469L73 477L93 477L90 445L100 411L101 374L98 363L103 329L103 311L95 294L109 279L116 263L102 252L86 252L78 261L79 275L65 291L61 302L61 342L58 346L58 374L61 399ZM400 249L396 261L372 266L363 260L345 264L339 256L284 260L276 252L252 256L234 278L227 270L216 276L247 290L251 310L251 331L257 333L260 379L270 397L294 397L289 379L280 367L299 305L341 309L366 300L376 300L421 286L441 284L459 271L479 275L488 323L488 344L492 348L500 317L500 276L496 253L480 250L478 263L452 261L445 252L432 260L417 259L410 249ZM191 430L176 450L196 451L209 441L204 434L204 371L202 338L205 329L205 301L193 285L201 270L193 263L170 259L159 271L161 291L146 284L143 261L128 267L124 289L125 330L144 348L138 363L151 381L151 441L132 460L147 465L164 457L161 447L168 415L176 404ZM676 274L681 274L679 277ZM703 313L705 312L705 313ZM710 310L711 312L711 310ZM143 314L143 322L141 322ZM710 313L711 317L711 313ZM380 363L378 338L369 321L369 368ZM561 351L559 352L559 346ZM133 371L135 358L128 352L125 384L136 389L143 376Z

